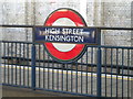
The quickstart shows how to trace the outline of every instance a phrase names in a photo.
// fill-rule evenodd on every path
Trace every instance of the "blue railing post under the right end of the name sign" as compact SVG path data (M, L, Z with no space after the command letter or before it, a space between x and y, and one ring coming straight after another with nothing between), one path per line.
M96 80L96 95L98 97L102 96L102 80L101 80L101 64L102 64L102 52L101 52L101 47L98 47L98 80Z

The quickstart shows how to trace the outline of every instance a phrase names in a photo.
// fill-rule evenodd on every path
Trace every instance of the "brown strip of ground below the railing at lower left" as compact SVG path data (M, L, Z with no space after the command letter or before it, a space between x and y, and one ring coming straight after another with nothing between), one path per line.
M2 97L80 97L80 96L3 86Z

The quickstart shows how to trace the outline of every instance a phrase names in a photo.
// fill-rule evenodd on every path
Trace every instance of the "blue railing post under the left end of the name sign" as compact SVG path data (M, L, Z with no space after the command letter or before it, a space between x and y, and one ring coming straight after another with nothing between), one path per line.
M31 88L35 90L35 45L32 44L31 51Z

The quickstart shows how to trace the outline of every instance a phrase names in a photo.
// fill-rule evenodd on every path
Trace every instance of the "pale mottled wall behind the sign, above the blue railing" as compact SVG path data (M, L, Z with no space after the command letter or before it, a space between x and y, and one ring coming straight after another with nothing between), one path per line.
M88 26L131 28L131 1L16 0L2 2L2 24L43 25L52 11L59 8L71 8L83 15ZM2 40L32 41L31 33L30 29L7 29L2 32ZM102 44L131 46L131 32L103 31Z

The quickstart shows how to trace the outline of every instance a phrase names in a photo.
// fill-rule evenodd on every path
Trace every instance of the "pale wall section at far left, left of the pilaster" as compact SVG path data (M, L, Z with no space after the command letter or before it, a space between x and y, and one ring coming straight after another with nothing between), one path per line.
M25 24L24 2L2 3L2 24ZM3 29L2 40L25 41L25 29Z

